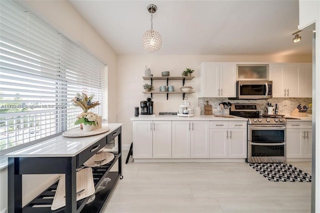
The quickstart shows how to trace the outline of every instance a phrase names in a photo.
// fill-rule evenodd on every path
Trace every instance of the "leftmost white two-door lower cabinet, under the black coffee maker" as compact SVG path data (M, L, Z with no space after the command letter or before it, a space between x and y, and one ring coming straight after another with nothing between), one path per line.
M171 158L171 121L133 121L133 158Z

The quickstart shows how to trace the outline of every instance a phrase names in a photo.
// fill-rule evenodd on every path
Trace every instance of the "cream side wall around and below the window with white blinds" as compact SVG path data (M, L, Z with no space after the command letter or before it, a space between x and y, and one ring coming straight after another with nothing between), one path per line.
M65 0L19 0L33 14L45 20L56 30L88 49L108 65L108 121L116 122L116 60L117 55L101 36ZM56 175L23 175L23 199L25 204L44 190ZM7 206L7 169L0 170L0 211Z

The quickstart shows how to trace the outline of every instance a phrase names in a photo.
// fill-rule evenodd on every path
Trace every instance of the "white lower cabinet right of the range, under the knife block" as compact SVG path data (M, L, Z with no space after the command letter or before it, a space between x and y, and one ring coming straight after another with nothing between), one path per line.
M287 122L286 157L312 157L312 128L311 121Z

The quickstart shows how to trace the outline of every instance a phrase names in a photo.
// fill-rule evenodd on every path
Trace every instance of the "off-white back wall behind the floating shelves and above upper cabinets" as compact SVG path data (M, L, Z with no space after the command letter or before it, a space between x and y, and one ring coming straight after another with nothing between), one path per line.
M274 56L274 55L119 55L117 61L118 72L118 98L117 98L117 122L123 123L122 131L125 132L122 137L122 143L129 145L132 141L132 121L130 117L134 116L134 107L139 106L140 100L145 100L148 96L143 94L142 85L150 83L143 80L145 65L151 69L153 76L161 76L161 71L170 71L170 76L181 76L185 68L191 68L195 71L192 80L187 80L185 85L193 87L195 93L187 94L188 101L191 104L198 104L199 89L199 65L203 61L221 61L221 62L311 62L311 55L298 56ZM154 90L158 91L159 85L165 85L165 80L155 80ZM182 82L179 80L169 80L169 85L174 85L179 89ZM179 103L182 101L182 94L169 94L166 100L165 94L153 94L154 111L158 112L176 112Z

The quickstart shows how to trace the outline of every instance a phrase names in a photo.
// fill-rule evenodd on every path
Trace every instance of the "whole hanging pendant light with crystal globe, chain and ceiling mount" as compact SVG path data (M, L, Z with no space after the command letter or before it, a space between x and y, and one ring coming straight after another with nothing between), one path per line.
M152 14L156 11L157 7L154 4L149 4L146 9L151 13L151 29L144 32L142 36L142 45L146 51L156 52L160 49L162 44L161 35L153 30L152 27Z

